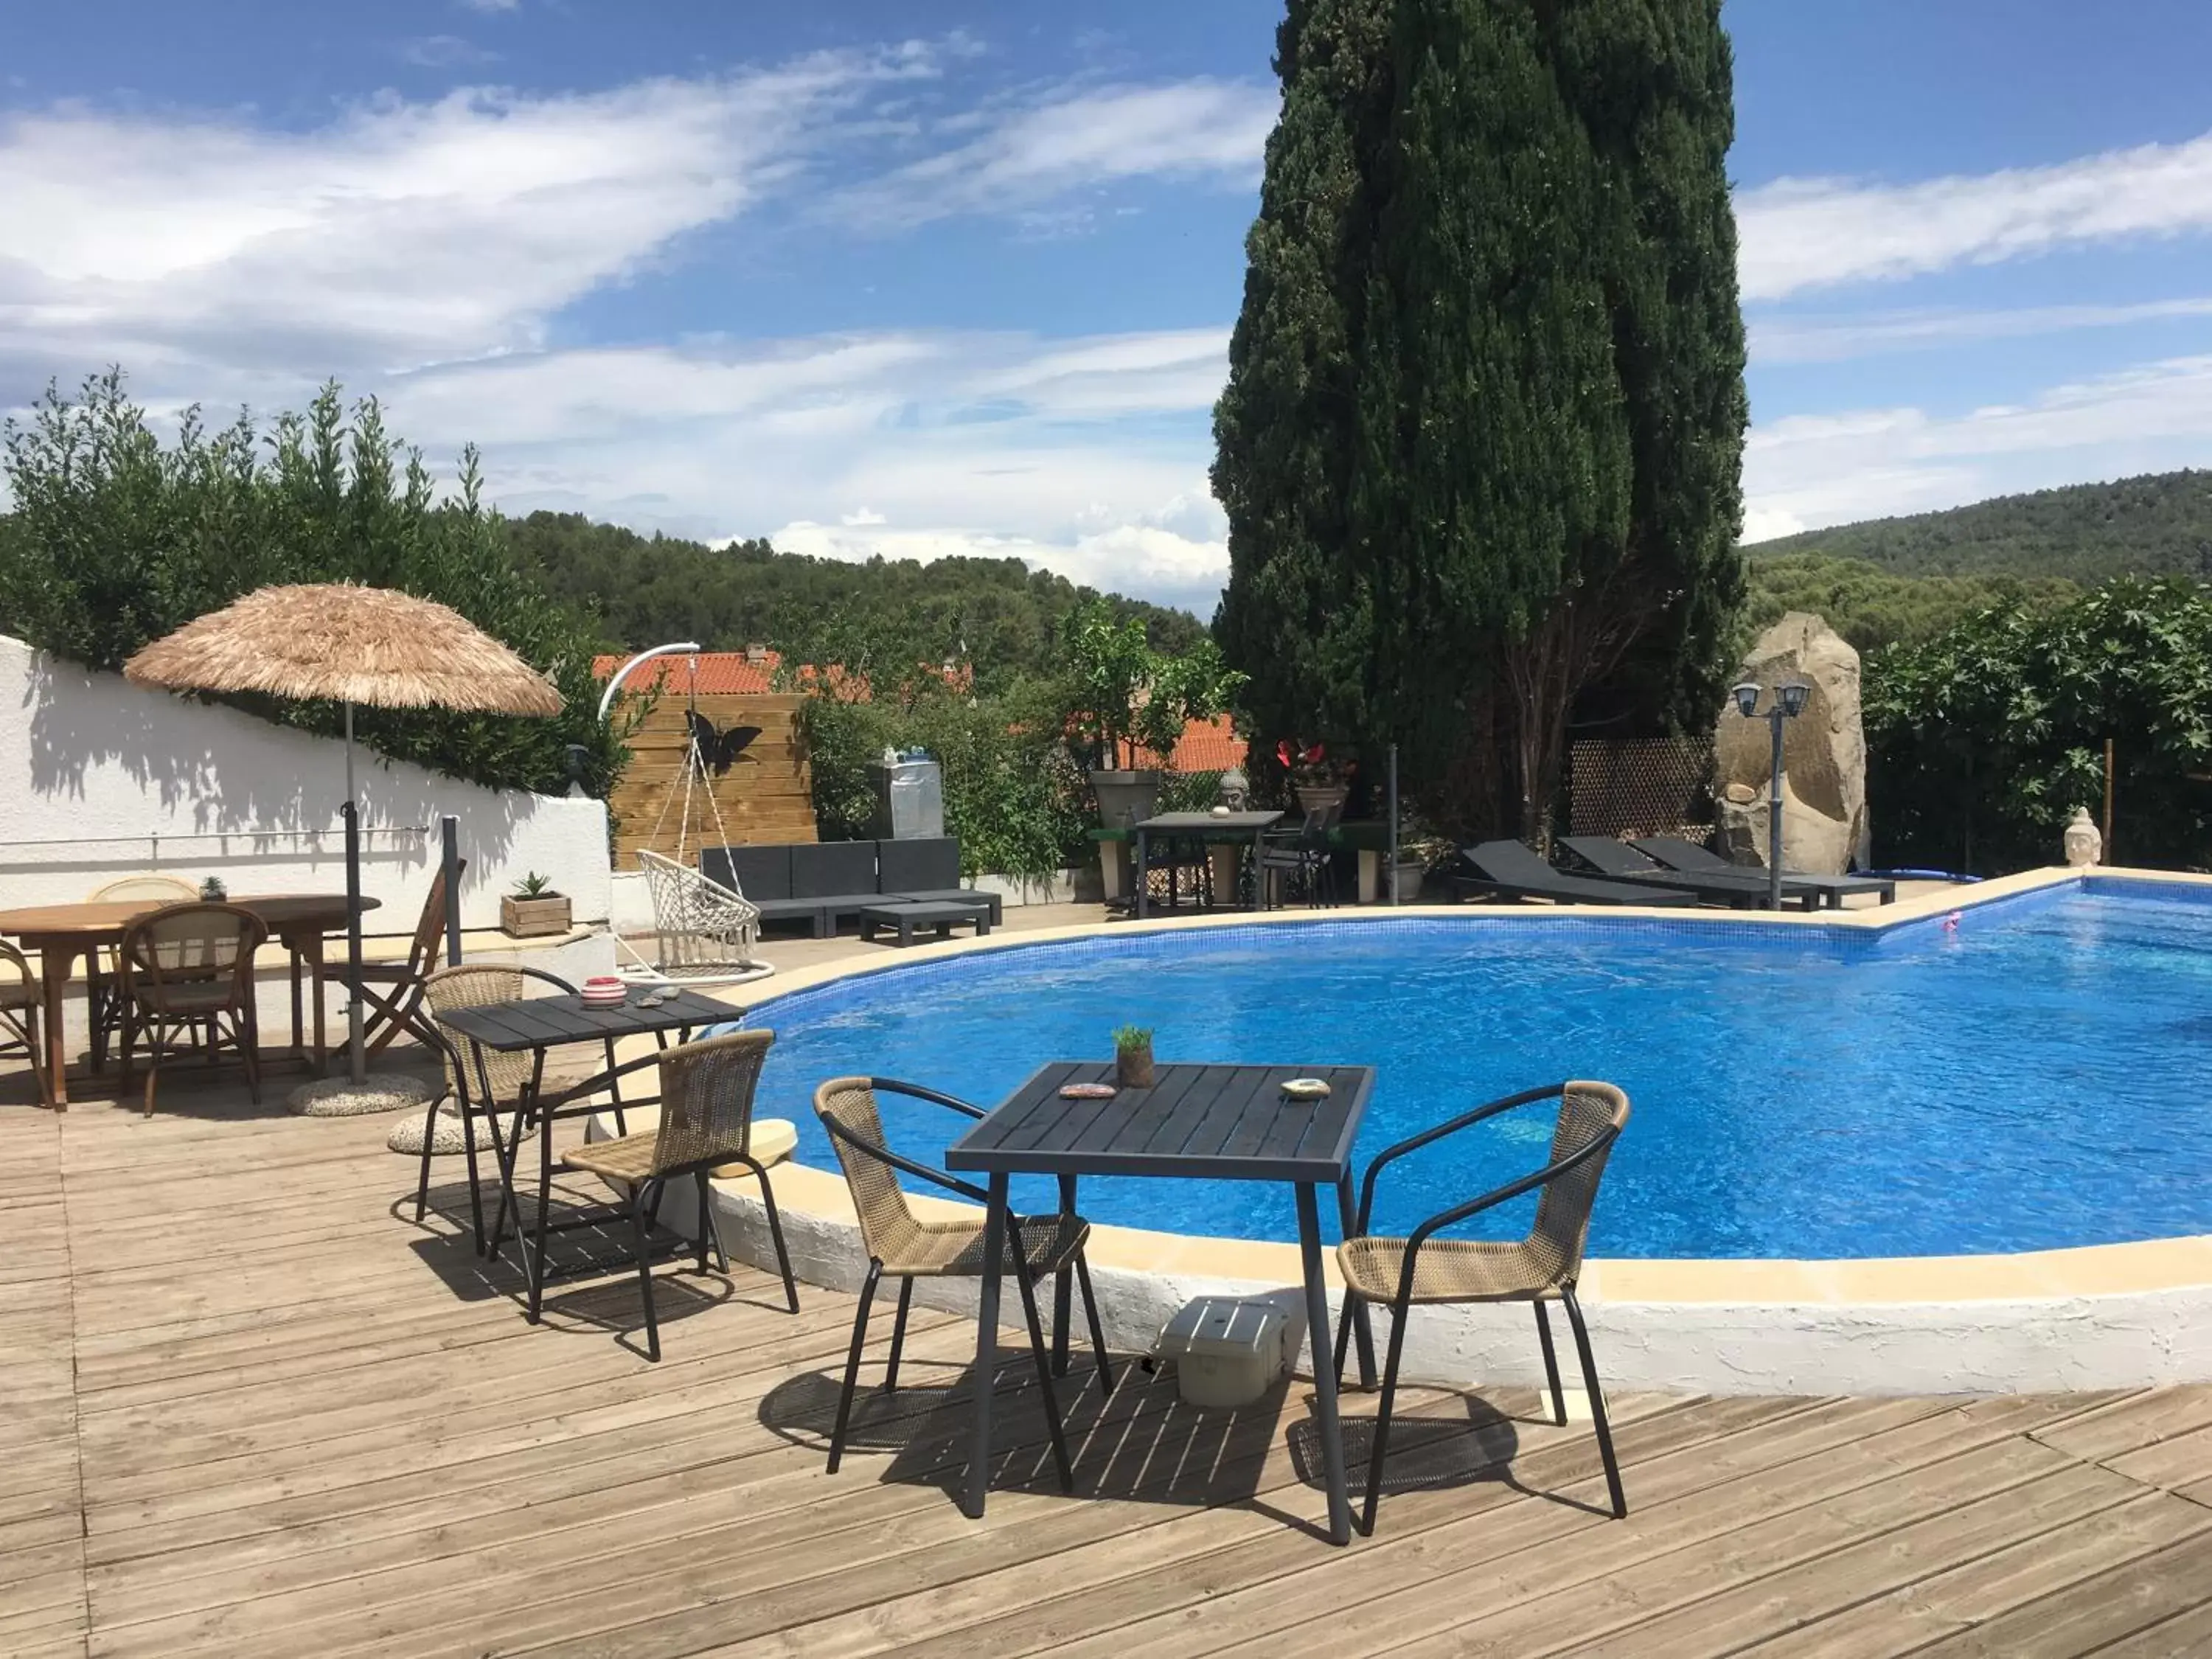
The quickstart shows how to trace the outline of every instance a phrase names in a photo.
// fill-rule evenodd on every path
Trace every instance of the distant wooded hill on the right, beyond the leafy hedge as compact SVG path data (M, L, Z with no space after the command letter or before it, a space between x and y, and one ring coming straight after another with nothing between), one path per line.
M1907 577L2064 577L2095 586L2115 575L2183 573L2212 582L2212 471L1997 495L1944 513L1785 535L1745 553L1754 568L1823 553Z

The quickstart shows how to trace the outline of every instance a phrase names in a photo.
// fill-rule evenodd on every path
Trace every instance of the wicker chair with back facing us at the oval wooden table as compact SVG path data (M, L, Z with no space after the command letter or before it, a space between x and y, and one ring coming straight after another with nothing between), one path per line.
M148 1117L161 1062L192 1048L206 1053L210 1064L219 1048L237 1048L246 1088L261 1104L254 951L265 938L261 918L237 905L166 905L131 922L119 949L124 1086L144 1040Z

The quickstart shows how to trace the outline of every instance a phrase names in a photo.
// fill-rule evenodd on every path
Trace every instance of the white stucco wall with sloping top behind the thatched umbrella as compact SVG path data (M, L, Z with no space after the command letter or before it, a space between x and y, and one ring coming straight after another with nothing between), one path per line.
M86 898L148 869L234 894L341 891L345 745L58 661L0 635L0 907ZM356 748L369 931L414 929L460 818L462 925L498 927L526 872L568 894L580 925L611 909L606 807L484 790Z

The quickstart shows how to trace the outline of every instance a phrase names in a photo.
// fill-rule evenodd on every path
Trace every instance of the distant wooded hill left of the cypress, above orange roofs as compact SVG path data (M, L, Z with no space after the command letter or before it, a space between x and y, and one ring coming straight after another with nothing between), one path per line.
M779 553L765 540L706 546L637 535L582 513L531 513L507 522L515 560L544 586L593 615L606 650L697 639L708 650L774 646L792 661L872 664L909 670L960 659L980 686L1044 672L1053 630L1091 588L1022 560L818 560ZM1188 650L1203 624L1106 595L1124 617L1144 617L1161 650Z

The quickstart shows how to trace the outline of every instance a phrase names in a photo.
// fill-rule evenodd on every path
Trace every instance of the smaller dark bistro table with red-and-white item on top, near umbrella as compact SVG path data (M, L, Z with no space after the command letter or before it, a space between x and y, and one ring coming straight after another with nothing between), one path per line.
M524 973L529 973L529 969L524 969ZM568 1228L597 1225L606 1219L602 1210L586 1210L575 1217L564 1217L560 1223L546 1221L546 1208L553 1197L553 1121L562 1117L591 1115L595 1110L591 1097L606 1091L608 1106L613 1108L619 1126L624 1106L659 1104L659 1095L637 1095L624 1099L622 1077L644 1066L659 1064L659 1051L668 1046L668 1033L675 1033L677 1042L686 1042L697 1026L732 1024L745 1018L743 1009L734 1009L728 1002L714 1002L697 991L677 991L672 998L650 1009L639 1006L641 998L644 991L630 991L630 995L613 1009L586 1009L582 995L566 991L562 995L522 998L520 1002L484 1002L473 1009L453 1009L451 1013L438 1015L440 1026L467 1037L473 1044L491 1048L493 1053L531 1055L531 1079L524 1084L522 1097L511 1102L489 1099L491 1084L482 1064L478 1064L478 1079L487 1095L489 1110L507 1113L511 1121L507 1139L500 1141L498 1117L493 1117L493 1148L500 1166L500 1210L491 1223L489 1250L482 1239L478 1239L478 1250L498 1259L500 1239L507 1230L507 1212L513 1208L515 1241L522 1248L522 1272L531 1287L529 1321L533 1325L538 1323L538 1310L544 1301L546 1287L546 1234L564 1232ZM655 1040L655 1053L626 1064L615 1060L615 1042L619 1037L646 1035ZM580 1042L604 1044L606 1066L595 1071L591 1077L549 1095L544 1091L546 1053ZM515 1159L522 1155L522 1137L529 1130L538 1133L535 1237L522 1230L522 1203L515 1194ZM482 1223L482 1217L478 1217L478 1223ZM584 1270L595 1267L586 1265Z

